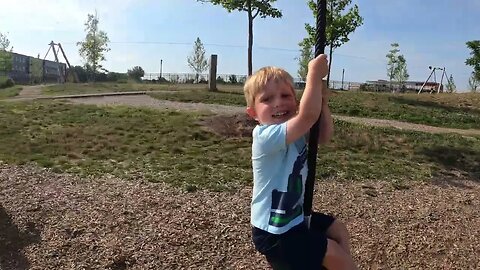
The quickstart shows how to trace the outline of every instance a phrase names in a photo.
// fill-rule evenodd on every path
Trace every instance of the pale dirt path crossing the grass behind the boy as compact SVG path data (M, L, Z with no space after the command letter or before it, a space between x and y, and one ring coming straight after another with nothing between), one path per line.
M73 103L82 103L82 104L126 105L126 106L149 107L149 108L160 108L160 109L198 110L198 111L210 111L213 113L222 113L222 114L238 114L238 113L245 112L245 108L238 107L238 106L173 102L173 101L167 101L167 100L154 99L148 95L105 96L105 97L75 98L75 99L68 99L68 100ZM369 126L393 127L397 129L413 130L413 131L421 131L421 132L429 132L429 133L457 133L465 136L480 136L480 129L453 129L453 128L443 128L443 127L434 127L434 126L427 126L427 125L421 125L421 124L413 124L408 122L400 122L395 120L360 118L360 117L350 117L350 116L340 116L340 115L335 115L334 117L343 121L359 123L359 124L364 124Z

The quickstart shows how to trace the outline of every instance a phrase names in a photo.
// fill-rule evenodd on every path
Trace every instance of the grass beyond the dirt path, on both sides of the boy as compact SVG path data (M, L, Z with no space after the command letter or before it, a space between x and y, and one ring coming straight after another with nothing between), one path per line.
M219 84L209 92L205 84L96 83L65 84L46 88L47 95L124 91L164 91L151 93L157 99L245 106L242 86ZM299 92L298 96L301 96ZM334 92L330 99L334 114L399 120L431 126L480 128L480 94L391 94Z

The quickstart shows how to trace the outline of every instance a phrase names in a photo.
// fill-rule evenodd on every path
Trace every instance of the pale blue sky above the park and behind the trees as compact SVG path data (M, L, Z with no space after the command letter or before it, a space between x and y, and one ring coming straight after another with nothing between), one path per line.
M315 18L305 0L278 0L282 18L254 21L253 69L278 66L297 77L305 23ZM480 39L480 0L352 0L364 19L350 41L334 51L332 80L387 79L386 54L400 45L409 80L425 81L429 66L445 67L458 91L468 90L472 67L466 42ZM247 73L247 13L195 0L0 0L0 32L13 51L44 58L50 41L61 43L72 65L83 65L76 43L85 38L88 14L110 39L103 66L126 72L191 72L187 57L199 37L206 54L218 56L217 73ZM47 59L52 60L50 52ZM436 71L437 81L441 71Z

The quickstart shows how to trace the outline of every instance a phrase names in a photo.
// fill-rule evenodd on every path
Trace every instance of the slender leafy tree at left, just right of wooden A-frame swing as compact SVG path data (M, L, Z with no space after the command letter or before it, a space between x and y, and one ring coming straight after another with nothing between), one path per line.
M100 65L101 61L105 61L105 53L110 51L108 48L108 39L107 33L98 29L99 19L95 14L88 14L87 21L85 22L85 36L84 41L77 42L77 46L80 46L78 50L80 56L85 62L85 69L90 71L93 76L93 81L95 81L95 74L97 70L105 69Z

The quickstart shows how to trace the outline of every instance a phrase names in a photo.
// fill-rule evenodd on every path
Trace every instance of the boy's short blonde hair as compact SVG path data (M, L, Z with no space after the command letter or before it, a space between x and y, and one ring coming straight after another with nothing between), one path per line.
M261 68L248 77L243 86L243 93L245 94L247 107L253 107L255 104L255 97L263 91L270 80L283 81L288 84L293 91L293 78L288 72L277 67Z

